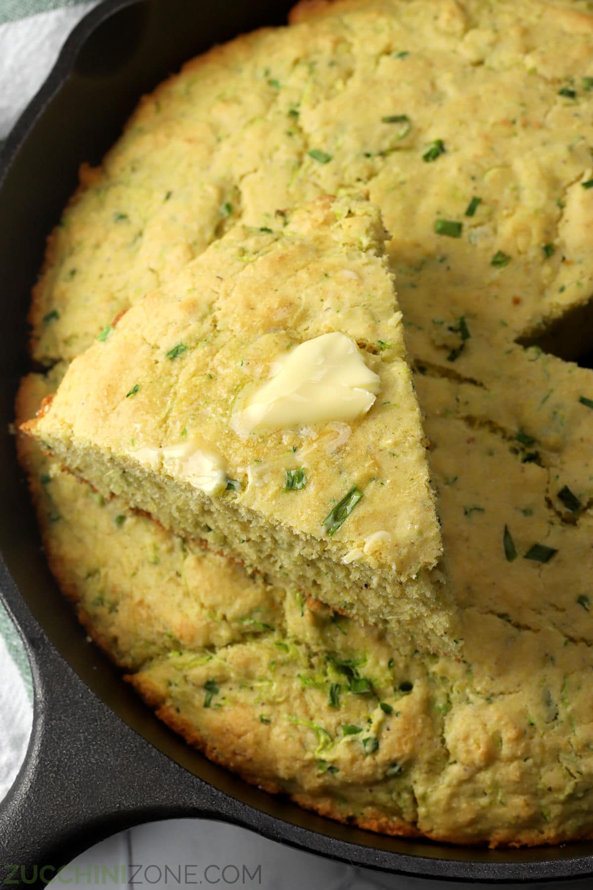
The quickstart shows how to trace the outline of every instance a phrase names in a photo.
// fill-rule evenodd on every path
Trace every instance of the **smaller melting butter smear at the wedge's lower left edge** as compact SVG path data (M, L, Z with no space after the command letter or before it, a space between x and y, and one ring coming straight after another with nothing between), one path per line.
M151 470L162 467L165 473L186 479L206 495L218 495L227 488L224 457L200 436L175 445L136 449L130 454L141 464L148 464Z

